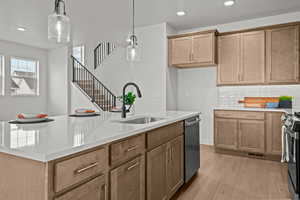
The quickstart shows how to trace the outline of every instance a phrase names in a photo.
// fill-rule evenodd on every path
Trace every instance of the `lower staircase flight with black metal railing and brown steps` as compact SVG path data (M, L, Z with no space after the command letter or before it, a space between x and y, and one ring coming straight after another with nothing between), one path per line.
M105 87L83 64L76 58L72 58L72 82L91 102L103 111L111 111L116 107L117 97Z

